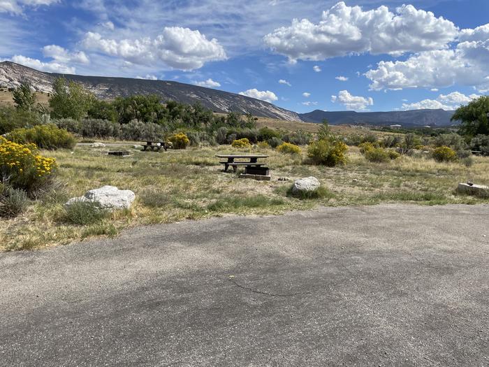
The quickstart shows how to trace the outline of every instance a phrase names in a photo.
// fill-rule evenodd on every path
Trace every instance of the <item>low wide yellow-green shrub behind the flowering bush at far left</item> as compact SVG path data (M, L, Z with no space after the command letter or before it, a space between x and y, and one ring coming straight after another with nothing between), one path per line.
M34 143L41 149L50 150L72 149L76 144L73 134L59 129L54 124L37 125L31 129L15 129L6 138L19 144Z

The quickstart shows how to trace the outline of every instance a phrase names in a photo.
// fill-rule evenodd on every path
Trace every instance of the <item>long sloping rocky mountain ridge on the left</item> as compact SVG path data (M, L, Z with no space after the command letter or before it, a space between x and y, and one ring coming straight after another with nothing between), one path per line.
M293 111L279 108L272 103L259 99L217 89L168 80L61 75L37 71L13 62L0 62L0 87L17 87L20 82L27 80L38 92L51 92L52 82L59 76L82 83L100 99L115 99L117 96L130 96L133 94L158 94L163 100L173 100L182 103L200 102L203 106L217 113L235 111L238 113L251 113L258 117L300 121L299 115Z

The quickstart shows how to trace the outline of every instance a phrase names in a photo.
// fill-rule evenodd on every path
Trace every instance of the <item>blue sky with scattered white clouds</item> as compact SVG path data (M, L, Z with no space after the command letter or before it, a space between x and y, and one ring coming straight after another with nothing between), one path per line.
M315 109L452 110L489 93L489 0L0 0L0 60Z

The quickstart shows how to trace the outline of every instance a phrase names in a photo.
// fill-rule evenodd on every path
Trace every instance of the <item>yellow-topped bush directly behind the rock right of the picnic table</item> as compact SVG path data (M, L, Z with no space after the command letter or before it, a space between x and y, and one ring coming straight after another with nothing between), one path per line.
M307 156L312 164L323 164L329 167L346 163L348 147L342 141L321 139L314 141L307 147Z

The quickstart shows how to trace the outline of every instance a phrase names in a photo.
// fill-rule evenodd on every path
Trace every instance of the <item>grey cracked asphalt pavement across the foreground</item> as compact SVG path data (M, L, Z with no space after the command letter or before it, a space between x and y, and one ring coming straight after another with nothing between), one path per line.
M3 253L0 364L488 365L488 264L489 206L214 218Z

